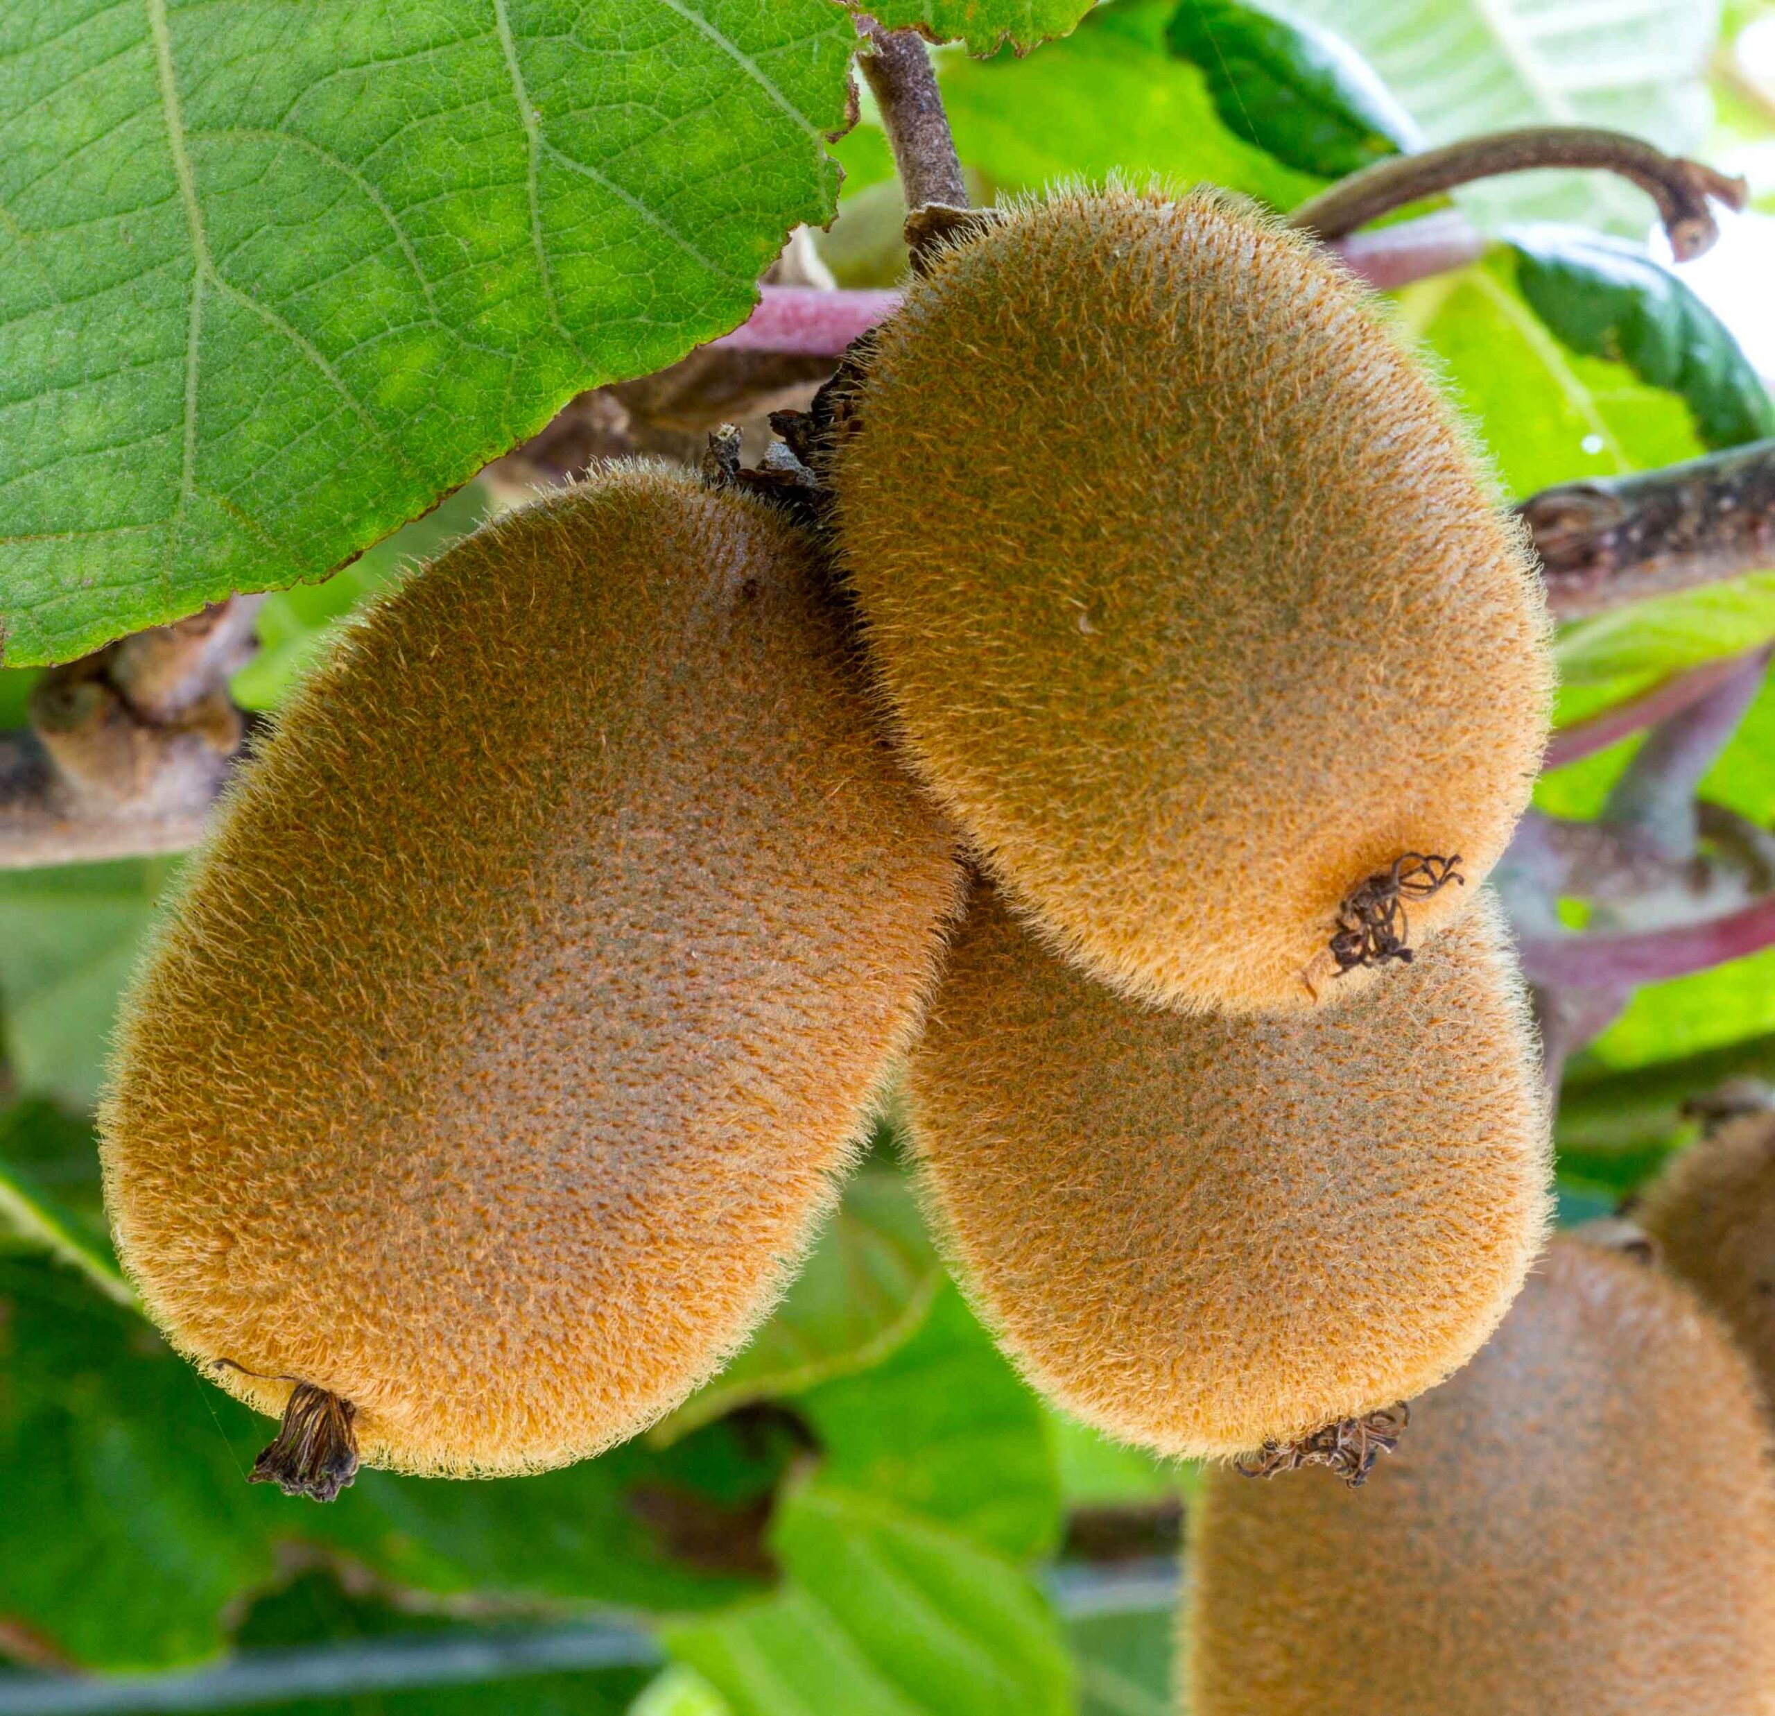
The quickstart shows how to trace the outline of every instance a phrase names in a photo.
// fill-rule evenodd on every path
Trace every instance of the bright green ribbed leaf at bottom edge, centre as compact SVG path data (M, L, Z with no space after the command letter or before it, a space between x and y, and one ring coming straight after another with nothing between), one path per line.
M1070 1716L1060 1624L1012 1563L825 1482L792 1490L783 1590L666 1647L735 1716Z

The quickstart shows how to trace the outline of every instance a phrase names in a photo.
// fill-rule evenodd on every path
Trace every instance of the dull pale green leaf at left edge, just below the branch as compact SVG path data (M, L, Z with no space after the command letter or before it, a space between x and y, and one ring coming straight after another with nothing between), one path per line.
M98 1098L117 1000L172 876L165 858L0 872L0 1020L20 1091Z

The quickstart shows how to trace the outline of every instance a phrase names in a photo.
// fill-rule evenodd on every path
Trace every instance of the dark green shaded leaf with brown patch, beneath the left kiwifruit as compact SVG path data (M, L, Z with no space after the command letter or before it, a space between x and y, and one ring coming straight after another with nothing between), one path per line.
M706 1608L758 1588L795 1451L710 1425L538 1478L360 1473L321 1508L247 1485L272 1428L80 1275L0 1249L0 1617L103 1666L211 1656L298 1540L437 1593Z

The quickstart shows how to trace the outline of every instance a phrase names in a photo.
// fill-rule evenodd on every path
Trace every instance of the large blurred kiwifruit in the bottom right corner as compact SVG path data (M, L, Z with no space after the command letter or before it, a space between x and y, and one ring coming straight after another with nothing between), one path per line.
M1743 1357L1679 1283L1558 1238L1367 1489L1209 1476L1184 1709L1766 1716L1771 1545Z

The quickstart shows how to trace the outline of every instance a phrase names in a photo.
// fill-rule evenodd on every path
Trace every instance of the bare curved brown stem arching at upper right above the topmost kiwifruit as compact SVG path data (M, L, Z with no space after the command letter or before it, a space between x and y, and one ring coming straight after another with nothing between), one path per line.
M1713 210L1708 206L1709 197L1716 197L1727 208L1743 208L1748 197L1748 187L1741 178L1727 178L1700 162L1665 155L1626 131L1582 124L1534 124L1464 137L1441 149L1376 162L1310 197L1289 220L1322 240L1342 238L1381 215L1390 215L1395 208L1440 195L1457 185L1541 167L1599 169L1631 179L1658 204L1658 215L1670 236L1670 250L1679 263L1700 256L1720 236Z

